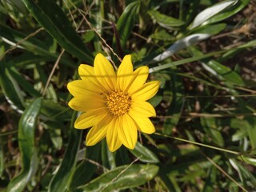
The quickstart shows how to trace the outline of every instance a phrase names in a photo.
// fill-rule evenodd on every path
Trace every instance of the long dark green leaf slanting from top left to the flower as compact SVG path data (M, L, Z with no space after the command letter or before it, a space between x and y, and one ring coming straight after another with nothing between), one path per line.
M53 0L22 0L27 9L45 30L70 54L92 63L90 51L72 27L66 14Z

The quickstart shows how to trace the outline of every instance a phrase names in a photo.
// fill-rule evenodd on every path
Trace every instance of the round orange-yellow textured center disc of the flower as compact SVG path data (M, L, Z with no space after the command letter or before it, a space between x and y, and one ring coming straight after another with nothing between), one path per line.
M131 98L123 91L115 90L106 94L106 107L110 114L122 115L130 109Z

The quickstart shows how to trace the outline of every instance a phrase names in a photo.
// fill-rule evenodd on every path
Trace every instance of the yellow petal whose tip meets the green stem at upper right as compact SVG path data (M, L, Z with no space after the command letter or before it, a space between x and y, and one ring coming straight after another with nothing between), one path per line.
M148 75L149 68L147 66L138 67L138 69L134 71L128 92L134 93L136 90L140 89L146 82Z

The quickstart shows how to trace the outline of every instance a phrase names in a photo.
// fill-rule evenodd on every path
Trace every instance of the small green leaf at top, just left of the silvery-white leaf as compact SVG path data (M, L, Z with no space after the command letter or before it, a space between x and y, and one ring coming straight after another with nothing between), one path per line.
M182 26L185 22L178 20L177 18L172 18L165 14L160 14L157 10L149 10L151 18L154 19L158 24L166 29L173 29L177 26Z

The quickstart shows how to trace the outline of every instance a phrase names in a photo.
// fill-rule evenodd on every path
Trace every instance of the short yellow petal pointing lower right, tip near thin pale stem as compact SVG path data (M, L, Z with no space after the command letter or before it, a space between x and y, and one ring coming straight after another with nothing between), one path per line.
M153 123L149 118L138 118L137 116L132 117L138 125L138 130L145 134L153 134L155 129Z

